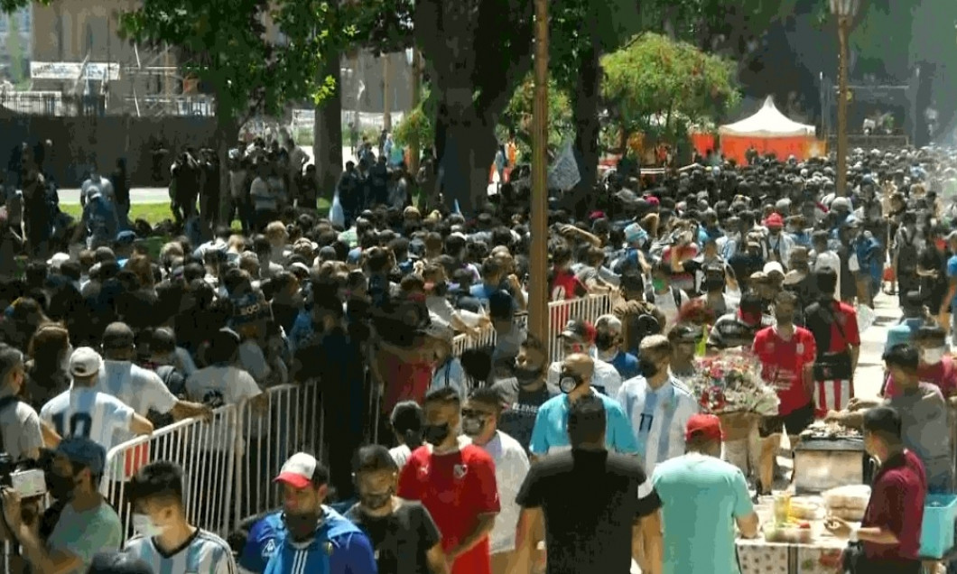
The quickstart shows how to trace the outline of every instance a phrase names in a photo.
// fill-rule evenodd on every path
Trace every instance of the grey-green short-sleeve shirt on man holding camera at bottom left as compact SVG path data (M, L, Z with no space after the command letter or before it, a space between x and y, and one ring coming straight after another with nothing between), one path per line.
M98 552L119 550L122 543L120 517L105 501L90 510L77 512L67 504L47 541L51 552L76 556L82 565L67 574L84 574Z

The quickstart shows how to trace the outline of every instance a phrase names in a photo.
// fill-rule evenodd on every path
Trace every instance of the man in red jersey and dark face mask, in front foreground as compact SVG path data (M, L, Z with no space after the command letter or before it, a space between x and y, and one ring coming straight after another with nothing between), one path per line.
M452 574L491 574L488 535L500 509L495 463L491 454L459 436L455 388L430 392L424 407L428 444L409 457L397 494L421 501L432 515Z

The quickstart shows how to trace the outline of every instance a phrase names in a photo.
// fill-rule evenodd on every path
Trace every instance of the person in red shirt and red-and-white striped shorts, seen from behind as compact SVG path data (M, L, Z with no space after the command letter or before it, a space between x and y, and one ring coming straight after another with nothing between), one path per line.
M814 272L820 298L804 313L808 330L817 342L813 369L814 416L824 418L831 410L842 410L854 398L854 371L860 355L857 311L835 300L837 274L825 267Z

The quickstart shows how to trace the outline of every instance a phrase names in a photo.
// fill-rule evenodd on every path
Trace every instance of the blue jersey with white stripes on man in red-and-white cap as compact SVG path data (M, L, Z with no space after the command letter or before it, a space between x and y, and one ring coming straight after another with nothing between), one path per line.
M311 541L283 536L264 574L376 574L372 544L358 526L330 508ZM288 531L286 531L288 533Z

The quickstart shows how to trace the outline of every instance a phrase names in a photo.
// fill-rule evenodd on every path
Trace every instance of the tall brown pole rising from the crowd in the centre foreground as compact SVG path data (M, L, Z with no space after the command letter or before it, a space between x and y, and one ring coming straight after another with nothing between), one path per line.
M532 106L531 261L528 332L548 343L548 0L535 0L535 99ZM546 347L547 348L547 347ZM551 358L548 359L551 361Z

